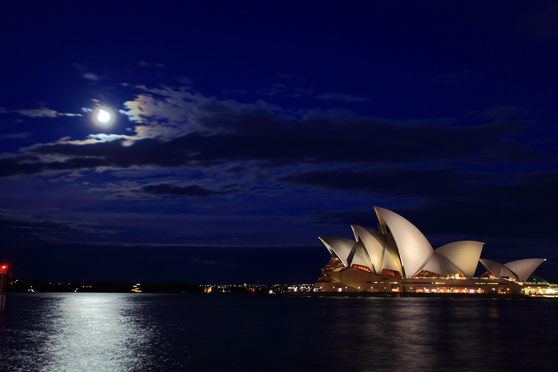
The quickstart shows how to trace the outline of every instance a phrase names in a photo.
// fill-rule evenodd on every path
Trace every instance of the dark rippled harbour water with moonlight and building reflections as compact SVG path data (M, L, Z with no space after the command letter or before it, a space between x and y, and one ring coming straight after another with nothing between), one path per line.
M0 371L555 371L554 299L8 293Z

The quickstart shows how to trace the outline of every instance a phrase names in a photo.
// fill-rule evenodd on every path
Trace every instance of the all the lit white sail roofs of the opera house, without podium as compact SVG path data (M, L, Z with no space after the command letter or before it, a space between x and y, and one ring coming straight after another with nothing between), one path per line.
M426 270L441 275L461 273L472 278L480 261L494 277L524 282L544 261L531 258L501 264L479 259L484 243L473 240L454 241L433 250L426 237L405 218L380 207L374 210L379 221L378 231L351 225L355 240L335 236L320 238L332 255L332 264L328 263L328 267L338 269L342 262L346 268L354 264L374 274L382 274L382 270L387 269L403 277L415 277Z

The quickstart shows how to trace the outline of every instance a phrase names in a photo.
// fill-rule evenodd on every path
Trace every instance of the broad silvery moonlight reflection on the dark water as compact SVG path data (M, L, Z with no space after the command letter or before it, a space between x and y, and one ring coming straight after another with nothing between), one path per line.
M45 370L119 371L141 366L152 334L134 322L126 298L105 294L66 294L56 309L45 354Z

